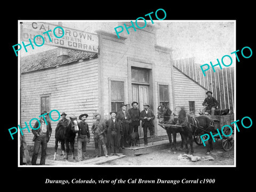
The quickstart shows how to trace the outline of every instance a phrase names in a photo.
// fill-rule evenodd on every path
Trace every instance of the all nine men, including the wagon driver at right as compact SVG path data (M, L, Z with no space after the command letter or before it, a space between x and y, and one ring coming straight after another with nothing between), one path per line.
M219 102L212 97L212 92L206 92L207 97L205 98L204 102L202 103L205 106L202 110L202 114L205 111L209 111L211 115L214 115L215 108L219 105ZM93 123L91 131L94 134L94 145L95 145L95 154L97 157L101 156L101 147L103 149L103 153L106 157L108 155L117 155L119 147L124 149L128 146L127 137L132 132L138 132L138 127L140 125L140 121L142 121L142 128L143 128L143 136L144 136L144 144L147 146L148 139L147 133L148 130L150 135L153 135L153 126L154 126L154 119L155 115L154 112L149 109L149 105L145 103L143 105L144 110L140 112L138 108L138 102L132 102L132 108L126 110L127 105L122 105L121 111L111 111L110 118L105 122L104 119L101 119L100 114L95 114L96 121ZM43 111L41 115L47 114L46 111ZM62 119L58 122L58 124L66 124L68 123L68 119L66 119L65 113L61 114ZM40 165L45 164L45 157L46 157L46 148L47 142L50 140L52 128L51 123L49 121L45 121L47 115L44 117L41 116L40 119L40 127L39 129L33 129L32 132L34 134L33 141L34 143L34 151L33 157L31 160L32 165L36 165L37 155L39 148L42 146L42 153L41 153L41 161ZM83 153L82 148L85 146L86 143L90 142L90 130L89 125L85 122L86 118L88 117L87 114L79 115L79 119L81 122L77 124L78 126L78 136L77 136L77 154L78 154L78 161L82 161ZM36 122L34 128L38 127L39 123ZM114 153L111 153L113 151Z

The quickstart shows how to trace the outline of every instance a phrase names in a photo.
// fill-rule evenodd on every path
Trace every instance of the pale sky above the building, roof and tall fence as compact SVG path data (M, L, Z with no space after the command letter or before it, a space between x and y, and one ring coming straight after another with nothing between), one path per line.
M58 22L47 22L58 25ZM171 48L174 60L195 57L196 63L204 64L210 61L214 63L217 58L220 60L223 55L230 55L235 51L235 21L154 20L154 24L151 24L151 21L147 20L147 25L148 23L156 27L156 44ZM62 25L89 33L95 33L95 30L106 30L115 34L114 28L118 23L117 21L62 21ZM49 49L55 49L55 47L35 46L34 50L29 49L27 53L22 49L21 55L23 57ZM234 54L231 57L235 59Z

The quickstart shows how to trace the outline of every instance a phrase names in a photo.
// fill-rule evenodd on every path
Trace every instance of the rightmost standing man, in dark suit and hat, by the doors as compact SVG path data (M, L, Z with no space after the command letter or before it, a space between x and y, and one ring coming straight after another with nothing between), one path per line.
M153 121L155 119L155 115L153 110L149 109L149 105L145 103L143 105L144 110L140 113L140 120L142 121L143 133L144 133L144 144L145 146L148 145L148 130L150 135L153 135Z

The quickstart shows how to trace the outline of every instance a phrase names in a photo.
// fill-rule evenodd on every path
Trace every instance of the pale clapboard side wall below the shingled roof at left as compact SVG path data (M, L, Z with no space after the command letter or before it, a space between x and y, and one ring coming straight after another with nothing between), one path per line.
M86 122L91 128L93 113L98 112L98 59L69 63L58 68L38 70L21 75L21 124L29 123L31 118L37 118L40 113L41 95L50 95L50 109L60 113L65 111L67 117L87 113ZM57 113L52 113L57 119ZM35 121L32 122L34 125ZM55 145L55 127L57 122L51 121L52 135L48 146ZM31 129L30 129L31 130ZM24 131L28 145L33 134ZM93 136L93 135L92 135ZM89 143L89 147L93 142Z

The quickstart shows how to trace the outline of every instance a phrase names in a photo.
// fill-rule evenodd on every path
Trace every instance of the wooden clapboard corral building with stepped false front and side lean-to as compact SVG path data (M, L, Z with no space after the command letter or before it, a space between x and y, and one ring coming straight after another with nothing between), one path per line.
M132 101L139 102L140 110L149 103L155 115L161 102L171 110L185 107L191 114L202 108L206 89L172 65L172 50L156 45L154 26L131 30L119 39L107 31L95 32L98 54L57 48L21 58L22 126L41 111L56 109L67 117L89 114L86 122L91 129L94 113L108 119L110 111L119 110L122 103L129 108ZM156 136L166 135L157 121ZM51 123L48 145L53 147L57 122ZM33 134L24 132L28 145L33 145Z

